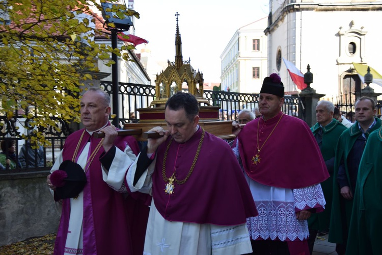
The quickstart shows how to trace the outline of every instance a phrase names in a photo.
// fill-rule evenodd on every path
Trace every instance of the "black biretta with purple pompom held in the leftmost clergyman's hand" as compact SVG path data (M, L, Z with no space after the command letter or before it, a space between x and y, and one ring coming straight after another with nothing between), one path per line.
M77 197L85 187L86 174L80 165L65 160L59 170L52 172L50 182L56 186L54 200Z

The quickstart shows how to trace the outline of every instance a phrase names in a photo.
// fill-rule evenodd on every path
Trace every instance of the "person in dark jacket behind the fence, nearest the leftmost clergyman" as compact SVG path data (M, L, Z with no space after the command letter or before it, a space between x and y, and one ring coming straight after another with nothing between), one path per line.
M22 168L44 167L44 148L41 145L32 145L28 140L22 145L18 159Z

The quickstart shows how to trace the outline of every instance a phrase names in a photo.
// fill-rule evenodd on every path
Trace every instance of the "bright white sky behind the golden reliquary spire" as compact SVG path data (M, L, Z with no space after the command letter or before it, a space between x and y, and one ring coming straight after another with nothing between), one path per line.
M127 2L127 1L126 1ZM203 72L204 82L220 83L223 50L240 27L268 15L269 0L134 0L135 35L158 61L175 60L176 17L183 60ZM137 45L137 49L144 44ZM139 51L140 52L140 51ZM158 73L161 70L158 70Z

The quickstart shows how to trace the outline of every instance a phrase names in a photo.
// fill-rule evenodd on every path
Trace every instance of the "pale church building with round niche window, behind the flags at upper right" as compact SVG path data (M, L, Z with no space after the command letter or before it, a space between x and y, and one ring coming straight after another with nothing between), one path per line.
M285 91L295 91L282 58L302 73L313 73L311 86L325 99L348 95L354 104L365 87L352 63L382 71L380 28L382 4L354 0L271 0L268 27L268 73L278 72ZM371 84L375 92L382 87ZM351 99L350 97L351 96ZM342 98L343 100L344 98Z

